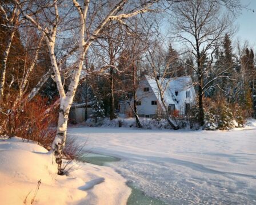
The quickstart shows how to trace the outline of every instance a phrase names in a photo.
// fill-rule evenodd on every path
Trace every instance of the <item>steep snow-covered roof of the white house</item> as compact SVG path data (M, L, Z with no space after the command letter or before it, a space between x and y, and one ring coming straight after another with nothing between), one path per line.
M157 97L159 103L162 105L157 82L153 77L145 76L145 78L153 90L154 95ZM184 106L186 91L188 89L191 89L193 92L191 95L195 94L193 82L190 76L182 76L169 79L159 78L159 83L161 84L162 89L165 90L163 98L167 106L169 104L175 104L176 108L179 108L179 106ZM175 92L178 92L177 96L175 95Z

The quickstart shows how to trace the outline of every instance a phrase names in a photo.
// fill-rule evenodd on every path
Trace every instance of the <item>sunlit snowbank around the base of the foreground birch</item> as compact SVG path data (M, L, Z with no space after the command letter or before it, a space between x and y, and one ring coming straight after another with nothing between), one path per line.
M0 140L0 153L1 204L31 204L35 195L33 204L119 205L130 195L125 179L110 167L72 162L68 176L55 174L53 154L21 138Z

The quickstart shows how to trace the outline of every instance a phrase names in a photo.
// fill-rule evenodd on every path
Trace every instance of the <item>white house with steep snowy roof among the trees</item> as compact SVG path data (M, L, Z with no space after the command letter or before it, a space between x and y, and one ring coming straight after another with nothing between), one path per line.
M159 79L164 90L164 100L169 113L186 115L195 104L195 89L190 76ZM119 116L127 117L129 113L127 101L119 103ZM143 77L137 89L137 110L139 117L153 117L156 113L163 114L165 110L159 95L155 79Z

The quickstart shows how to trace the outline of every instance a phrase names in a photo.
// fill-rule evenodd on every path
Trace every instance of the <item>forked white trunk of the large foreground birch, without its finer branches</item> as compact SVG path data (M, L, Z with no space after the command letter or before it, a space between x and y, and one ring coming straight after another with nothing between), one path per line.
M71 83L69 85L69 89L65 94L63 85L61 83L61 75L59 73L58 65L54 55L51 55L54 65L54 73L55 73L55 80L58 85L58 91L61 96L61 106L59 109L59 118L58 118L58 126L57 126L57 134L55 140L53 142L53 150L55 161L58 164L58 174L63 174L62 170L62 158L63 158L63 149L66 144L66 133L67 133L67 121L69 120L69 111L71 108L71 104L73 103L73 99L75 96L75 91L77 89L79 83L79 77L81 74L81 70L83 67L83 60L85 59L85 53L87 49L84 48L85 46L85 18L88 9L89 1L85 2L85 7L81 10L79 3L73 0L74 6L77 7L79 16L80 16L80 31L79 31L79 54L78 54L78 61L77 66L75 67L74 74L71 79ZM87 4L86 4L87 3ZM54 39L55 40L55 39ZM55 41L54 41L55 43ZM51 47L51 54L54 54L54 47Z

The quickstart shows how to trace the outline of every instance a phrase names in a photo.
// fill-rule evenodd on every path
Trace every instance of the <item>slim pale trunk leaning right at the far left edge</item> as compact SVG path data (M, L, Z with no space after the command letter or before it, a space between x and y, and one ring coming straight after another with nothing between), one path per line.
M7 46L5 48L5 52L3 53L3 63L2 63L1 71L0 71L0 101L3 98L3 89L5 87L7 59L9 56L11 42L13 41L14 33L15 33L15 30L11 31L11 35L9 36L9 39L7 40Z

